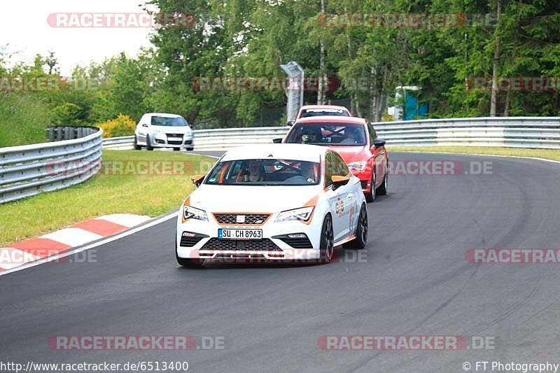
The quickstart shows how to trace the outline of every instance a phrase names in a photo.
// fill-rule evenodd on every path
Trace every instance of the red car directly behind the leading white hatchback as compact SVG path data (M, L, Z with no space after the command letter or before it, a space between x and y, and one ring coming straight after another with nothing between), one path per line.
M377 139L367 120L355 117L318 116L301 118L290 128L282 143L330 146L358 176L367 202L388 190L388 153L385 141Z

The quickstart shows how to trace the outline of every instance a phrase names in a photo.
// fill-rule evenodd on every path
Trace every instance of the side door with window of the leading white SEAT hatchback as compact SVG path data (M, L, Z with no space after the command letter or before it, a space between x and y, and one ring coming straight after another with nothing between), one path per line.
M342 185L334 189L332 185L331 176L339 175L346 176L349 174L348 166L344 160L332 152L325 155L325 188L328 188L328 202L330 213L332 216L332 230L335 236L335 241L344 239L349 234L349 209L351 206L350 200L353 194L350 192L351 188L348 184Z

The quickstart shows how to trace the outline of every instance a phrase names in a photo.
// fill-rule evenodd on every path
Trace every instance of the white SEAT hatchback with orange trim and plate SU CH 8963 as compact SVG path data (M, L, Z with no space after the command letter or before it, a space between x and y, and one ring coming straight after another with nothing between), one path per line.
M367 210L360 179L323 146L267 144L229 150L179 211L176 258L318 260L334 247L364 248Z

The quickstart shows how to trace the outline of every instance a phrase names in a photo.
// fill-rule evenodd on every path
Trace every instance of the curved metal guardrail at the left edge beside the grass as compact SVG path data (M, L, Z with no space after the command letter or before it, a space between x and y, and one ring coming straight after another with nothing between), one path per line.
M48 143L0 148L0 204L81 183L99 171L102 130L52 127Z

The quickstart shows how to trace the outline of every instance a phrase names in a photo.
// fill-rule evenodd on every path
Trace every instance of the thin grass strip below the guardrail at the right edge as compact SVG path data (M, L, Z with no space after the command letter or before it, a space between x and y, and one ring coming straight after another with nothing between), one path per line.
M492 146L387 146L387 150L399 152L468 153L488 155L514 155L516 157L535 157L547 160L560 160L560 150L497 148Z

